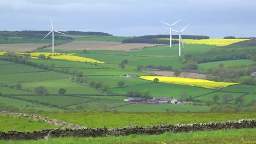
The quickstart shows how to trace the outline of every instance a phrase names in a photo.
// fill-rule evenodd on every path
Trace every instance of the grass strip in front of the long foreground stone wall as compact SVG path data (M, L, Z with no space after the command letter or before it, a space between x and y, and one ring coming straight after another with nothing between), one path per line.
M129 135L96 138L64 137L38 141L0 141L0 143L255 143L256 129L164 133L161 135Z

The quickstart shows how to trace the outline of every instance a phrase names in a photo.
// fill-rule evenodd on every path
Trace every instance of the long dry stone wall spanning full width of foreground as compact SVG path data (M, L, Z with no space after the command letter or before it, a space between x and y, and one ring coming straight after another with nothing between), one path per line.
M124 136L130 134L154 135L165 132L180 133L206 130L256 128L256 119L240 119L238 121L194 123L194 124L160 124L156 126L139 127L127 126L123 128L107 129L79 127L74 129L43 129L41 131L0 131L0 140L39 140L50 137L98 137Z

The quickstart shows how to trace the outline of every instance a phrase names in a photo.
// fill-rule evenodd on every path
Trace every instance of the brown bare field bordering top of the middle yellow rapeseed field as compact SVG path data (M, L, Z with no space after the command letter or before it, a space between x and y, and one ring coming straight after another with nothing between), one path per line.
M141 70L143 73L162 75L162 76L175 76L173 71L157 71L157 70ZM189 77L195 79L206 79L203 74L196 73L181 73L178 77Z

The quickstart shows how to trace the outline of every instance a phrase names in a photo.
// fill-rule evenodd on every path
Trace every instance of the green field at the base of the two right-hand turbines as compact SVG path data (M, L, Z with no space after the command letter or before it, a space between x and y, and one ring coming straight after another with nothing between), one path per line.
M181 47L182 55L187 54L199 54L205 53L208 50L216 48L218 46L212 45L197 45L197 44L184 44L184 47ZM132 50L132 51L123 51L117 54L120 55L140 55L140 56L178 56L179 45L174 44L172 47L166 46L157 46L149 47L147 49Z

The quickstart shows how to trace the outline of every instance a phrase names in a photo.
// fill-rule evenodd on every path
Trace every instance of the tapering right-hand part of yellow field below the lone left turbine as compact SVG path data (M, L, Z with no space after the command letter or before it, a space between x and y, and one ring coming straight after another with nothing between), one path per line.
M62 56L51 56L52 59L65 59L67 61L78 61L78 62L90 62L90 63L104 63L101 61L97 61L96 59L79 57L79 56L71 56L71 55L62 55Z

